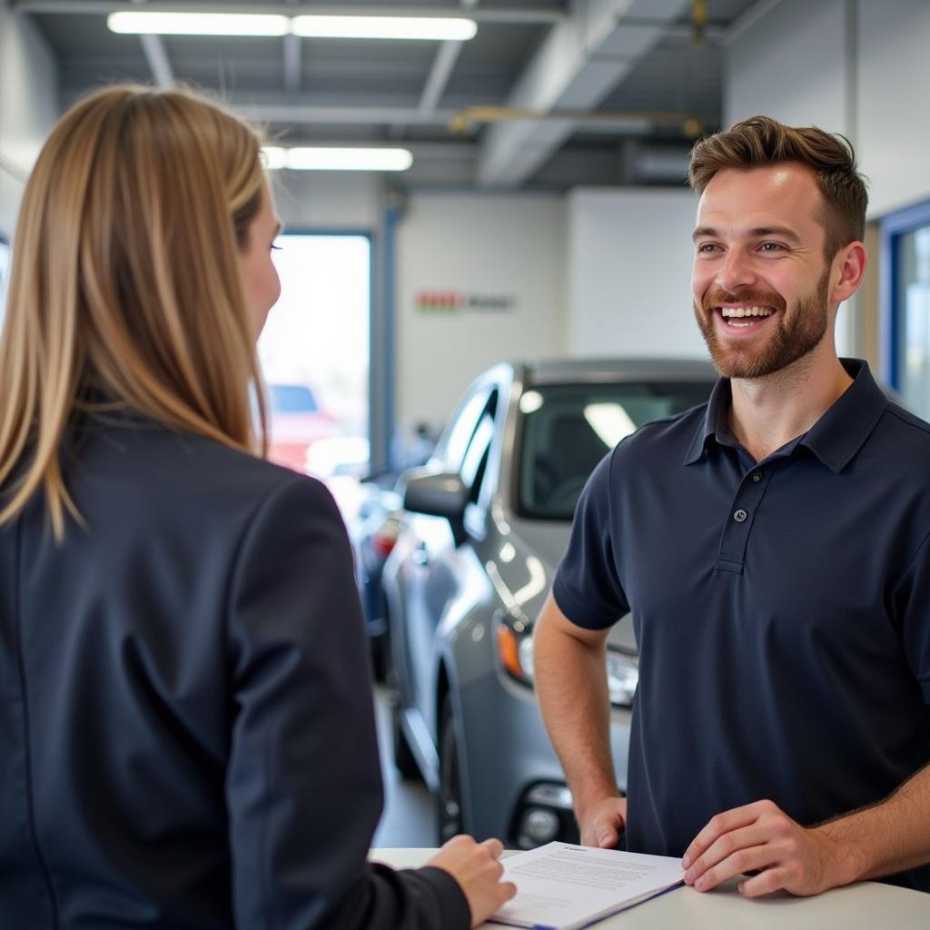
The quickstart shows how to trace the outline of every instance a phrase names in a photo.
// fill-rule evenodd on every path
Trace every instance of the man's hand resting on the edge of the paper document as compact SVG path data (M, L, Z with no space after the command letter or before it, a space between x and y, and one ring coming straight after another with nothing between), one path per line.
M824 828L804 828L771 801L757 801L712 817L682 859L684 883L710 891L743 872L758 875L740 883L746 897L783 889L818 895L843 884L840 849Z

